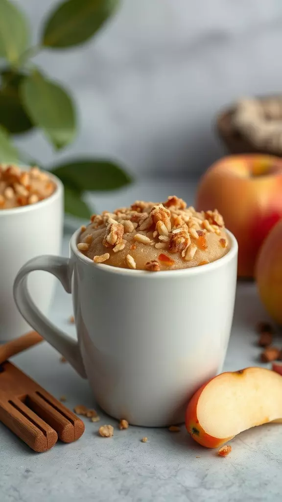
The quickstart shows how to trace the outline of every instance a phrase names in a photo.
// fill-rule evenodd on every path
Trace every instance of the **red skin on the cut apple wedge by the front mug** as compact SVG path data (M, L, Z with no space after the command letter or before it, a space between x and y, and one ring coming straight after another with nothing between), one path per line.
M211 380L213 379L210 379L208 382L202 385L202 387L200 387L200 389L194 394L192 399L189 401L186 409L185 426L190 436L200 445L205 446L206 448L219 448L224 443L232 439L233 436L225 439L215 438L213 436L210 436L201 427L201 425L199 424L199 420L197 418L197 405L199 398L204 388L211 382Z

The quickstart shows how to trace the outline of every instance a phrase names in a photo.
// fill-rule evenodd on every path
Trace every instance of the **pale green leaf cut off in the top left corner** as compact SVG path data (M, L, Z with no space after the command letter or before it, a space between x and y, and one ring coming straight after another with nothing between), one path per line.
M17 65L26 50L29 33L23 13L8 0L0 0L0 57Z

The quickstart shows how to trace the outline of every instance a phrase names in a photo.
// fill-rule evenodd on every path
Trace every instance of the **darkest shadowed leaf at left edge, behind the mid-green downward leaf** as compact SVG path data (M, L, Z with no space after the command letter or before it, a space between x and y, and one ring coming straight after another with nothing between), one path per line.
M33 128L33 124L21 103L19 94L19 87L25 75L5 70L1 73L1 77L0 124L12 134L29 131Z

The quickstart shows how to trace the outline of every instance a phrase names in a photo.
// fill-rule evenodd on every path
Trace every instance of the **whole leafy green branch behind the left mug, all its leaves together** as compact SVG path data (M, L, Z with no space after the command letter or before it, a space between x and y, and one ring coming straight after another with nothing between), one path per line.
M39 42L31 46L24 14L9 0L0 0L0 162L26 161L12 136L34 128L42 131L54 150L74 141L77 123L72 96L31 59L42 50L85 43L118 6L119 0L67 0L43 22ZM85 218L90 214L83 201L86 190L113 190L130 182L121 167L100 159L77 159L53 166L51 171L64 183L66 212Z

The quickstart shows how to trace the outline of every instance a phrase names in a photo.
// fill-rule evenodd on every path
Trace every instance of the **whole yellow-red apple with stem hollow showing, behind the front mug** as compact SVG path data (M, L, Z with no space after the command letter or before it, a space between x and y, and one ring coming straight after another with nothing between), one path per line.
M251 154L223 157L202 176L196 208L218 209L239 244L238 276L253 277L261 243L282 218L282 159Z

